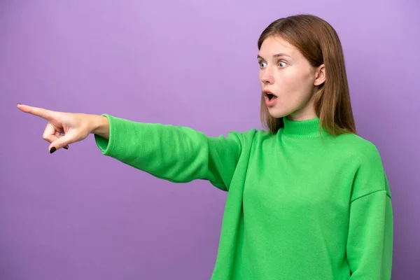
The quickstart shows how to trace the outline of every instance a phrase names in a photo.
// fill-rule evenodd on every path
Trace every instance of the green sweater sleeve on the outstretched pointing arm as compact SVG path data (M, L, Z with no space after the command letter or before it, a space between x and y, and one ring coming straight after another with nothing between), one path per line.
M242 134L207 137L188 127L137 123L104 114L109 139L95 134L103 155L174 183L195 179L228 190L242 151Z

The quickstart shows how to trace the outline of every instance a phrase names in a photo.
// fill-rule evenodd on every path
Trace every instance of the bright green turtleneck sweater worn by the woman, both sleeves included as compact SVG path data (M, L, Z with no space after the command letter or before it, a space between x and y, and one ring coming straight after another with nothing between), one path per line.
M207 137L109 115L104 155L177 183L228 191L212 280L390 279L391 194L377 148L319 119Z

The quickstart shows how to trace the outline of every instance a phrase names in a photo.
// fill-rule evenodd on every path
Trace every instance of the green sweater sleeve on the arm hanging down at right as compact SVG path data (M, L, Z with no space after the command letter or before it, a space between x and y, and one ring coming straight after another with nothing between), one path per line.
M350 204L347 260L351 280L391 279L393 213L381 159L370 146L360 157Z

